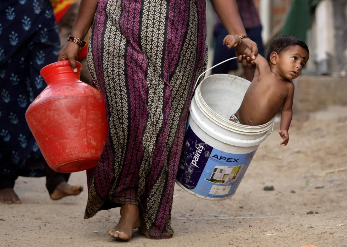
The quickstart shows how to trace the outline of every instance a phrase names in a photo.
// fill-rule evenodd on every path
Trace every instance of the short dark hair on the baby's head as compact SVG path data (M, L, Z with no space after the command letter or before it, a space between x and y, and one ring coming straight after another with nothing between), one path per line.
M308 54L310 54L308 47L304 41L301 41L294 36L281 35L271 42L268 53L266 54L266 60L270 62L270 55L272 52L276 51L277 54L280 55L282 52L285 52L290 46L294 45L301 46L307 51Z

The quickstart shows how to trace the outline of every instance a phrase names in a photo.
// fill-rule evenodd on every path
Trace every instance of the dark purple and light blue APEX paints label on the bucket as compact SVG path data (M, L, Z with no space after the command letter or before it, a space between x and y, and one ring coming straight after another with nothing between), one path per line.
M255 152L232 154L220 151L198 138L188 124L176 180L203 197L230 197Z

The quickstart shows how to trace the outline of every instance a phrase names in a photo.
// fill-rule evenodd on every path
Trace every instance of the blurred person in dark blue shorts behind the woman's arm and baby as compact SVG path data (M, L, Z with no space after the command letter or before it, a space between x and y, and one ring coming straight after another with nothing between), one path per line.
M262 26L253 0L236 0L236 2L249 39L253 40L257 44L258 54L264 56L264 46L261 38ZM223 39L228 35L228 32L219 20L218 16L215 16L217 18L217 23L215 24L213 32L215 39L213 65L229 58L236 57L234 48L228 50L228 48L223 45ZM228 74L231 70L237 70L237 66L236 59L233 59L213 68L212 74ZM246 79L252 81L255 68L249 69L245 67L244 70Z

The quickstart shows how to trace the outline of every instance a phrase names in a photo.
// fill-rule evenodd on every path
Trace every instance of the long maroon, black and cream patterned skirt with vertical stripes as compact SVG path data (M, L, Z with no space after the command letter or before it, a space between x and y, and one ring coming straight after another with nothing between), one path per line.
M139 205L152 239L170 238L172 199L194 83L206 68L205 0L99 0L88 67L108 140L87 171L85 219Z

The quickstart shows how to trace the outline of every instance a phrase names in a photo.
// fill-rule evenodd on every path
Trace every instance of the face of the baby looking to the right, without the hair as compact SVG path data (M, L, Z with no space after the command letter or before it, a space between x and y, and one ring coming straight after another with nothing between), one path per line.
M281 76L288 80L297 78L308 61L307 51L299 45L290 46L288 50L281 53L278 65Z

